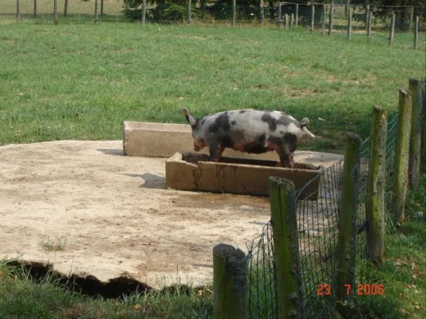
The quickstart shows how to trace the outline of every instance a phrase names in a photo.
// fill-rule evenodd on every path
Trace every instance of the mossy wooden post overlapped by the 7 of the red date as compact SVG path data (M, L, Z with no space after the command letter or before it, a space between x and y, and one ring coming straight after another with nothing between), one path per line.
M353 301L355 290L360 160L361 138L357 134L346 133L339 209L339 235L337 237L337 270L334 287L337 307L342 315L350 311L346 305Z

